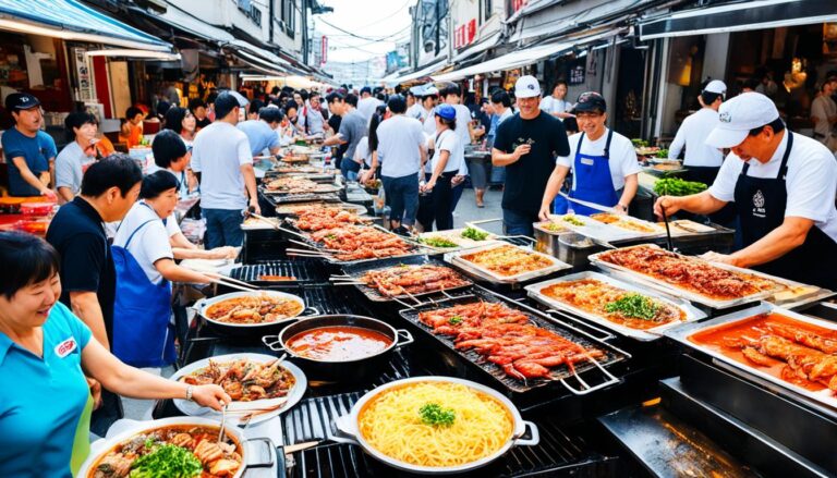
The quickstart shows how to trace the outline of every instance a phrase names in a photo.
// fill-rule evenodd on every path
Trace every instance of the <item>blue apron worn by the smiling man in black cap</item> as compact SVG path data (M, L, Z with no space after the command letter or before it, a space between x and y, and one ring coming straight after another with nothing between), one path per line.
M575 187L570 191L570 197L595 203L602 206L614 207L619 203L619 195L614 188L614 182L610 179L610 139L614 137L614 131L607 132L607 142L605 143L604 156L591 156L581 154L581 143L584 140L584 133L579 137L579 144L575 147L575 158L573 159L572 173L575 175ZM567 213L568 209L581 216L590 216L601 212L596 209L582 206L580 204L569 204L565 197L555 198L555 213Z

